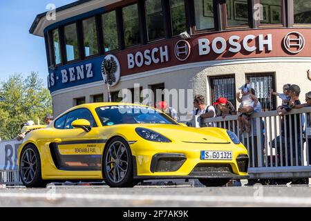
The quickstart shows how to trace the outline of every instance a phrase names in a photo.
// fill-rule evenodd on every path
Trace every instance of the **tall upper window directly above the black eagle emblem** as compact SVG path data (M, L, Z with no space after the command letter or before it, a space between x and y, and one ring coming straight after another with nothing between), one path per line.
M104 33L105 52L118 49L119 39L117 37L117 19L115 17L115 11L102 15L102 30Z

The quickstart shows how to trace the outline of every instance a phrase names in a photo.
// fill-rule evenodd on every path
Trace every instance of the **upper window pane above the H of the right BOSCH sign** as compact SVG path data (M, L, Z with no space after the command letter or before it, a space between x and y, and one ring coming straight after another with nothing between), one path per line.
M282 0L261 0L261 24L283 23Z

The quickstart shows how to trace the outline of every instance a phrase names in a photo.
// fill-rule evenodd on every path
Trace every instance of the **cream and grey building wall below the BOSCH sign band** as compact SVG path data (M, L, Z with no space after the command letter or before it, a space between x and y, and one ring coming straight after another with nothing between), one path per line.
M131 79L121 79L117 86L111 88L111 91L118 91L122 88L133 88L134 84L140 84L143 89L150 88L152 84L164 83L165 88L176 89L193 89L190 90L189 97L194 95L205 95L207 104L211 104L211 95L209 88L209 77L218 75L235 75L236 92L242 84L245 84L245 74L247 73L275 73L276 91L282 92L284 84L298 84L301 87L301 102L305 102L305 93L311 90L311 81L308 80L306 70L310 68L310 61L250 61L247 64L225 64L215 66L189 67L182 70L170 71L167 73L151 75ZM135 77L135 75L133 75ZM86 102L91 102L91 95L104 93L104 101L108 101L108 93L103 83L97 83L98 86L89 88L71 88L73 91L64 91L53 95L53 111L57 116L63 111L74 105L74 98L86 97ZM184 96L187 98L187 93ZM189 98L188 98L189 99ZM187 99L186 99L187 100ZM238 102L236 103L238 104ZM277 99L277 105L281 105L281 99ZM192 110L192 98L185 104L189 110ZM185 112L185 110L178 110ZM188 111L189 112L189 111ZM185 115L185 114L184 114ZM188 118L191 117L191 111Z

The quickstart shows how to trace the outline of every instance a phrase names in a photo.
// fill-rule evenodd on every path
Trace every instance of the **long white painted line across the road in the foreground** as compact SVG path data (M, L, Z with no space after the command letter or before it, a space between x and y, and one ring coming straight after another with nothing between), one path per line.
M288 204L311 206L311 198L251 197L220 195L117 195L117 194L74 194L74 193L0 193L0 198L32 198L40 200L132 200L173 202L236 202L256 204ZM52 200L53 201L53 200Z

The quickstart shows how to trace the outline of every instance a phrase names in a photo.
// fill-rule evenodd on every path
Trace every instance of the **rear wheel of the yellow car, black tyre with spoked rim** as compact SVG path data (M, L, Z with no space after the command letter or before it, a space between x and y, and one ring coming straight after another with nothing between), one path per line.
M40 154L36 146L28 144L23 148L19 162L19 175L21 182L27 188L46 187L47 182L42 180Z

